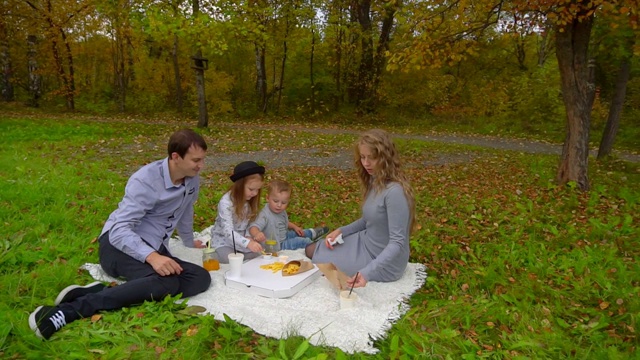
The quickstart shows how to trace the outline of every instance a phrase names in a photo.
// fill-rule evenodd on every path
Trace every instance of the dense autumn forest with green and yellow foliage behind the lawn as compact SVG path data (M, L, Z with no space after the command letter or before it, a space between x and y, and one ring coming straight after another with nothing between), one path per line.
M0 89L30 106L176 113L201 127L209 116L369 114L364 121L561 142L567 117L571 127L578 116L582 150L612 116L609 148L619 126L618 144L634 148L637 5L5 0ZM561 87L563 74L575 82ZM567 110L563 96L587 112Z

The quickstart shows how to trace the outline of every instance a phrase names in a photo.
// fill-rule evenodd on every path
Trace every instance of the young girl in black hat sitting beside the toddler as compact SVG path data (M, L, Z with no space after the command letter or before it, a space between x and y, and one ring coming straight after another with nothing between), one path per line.
M229 254L242 252L244 259L253 259L262 252L262 245L245 236L247 226L258 215L264 167L253 161L236 165L230 176L233 185L218 203L218 216L211 229L211 245L221 263L229 263ZM233 235L232 235L233 234Z

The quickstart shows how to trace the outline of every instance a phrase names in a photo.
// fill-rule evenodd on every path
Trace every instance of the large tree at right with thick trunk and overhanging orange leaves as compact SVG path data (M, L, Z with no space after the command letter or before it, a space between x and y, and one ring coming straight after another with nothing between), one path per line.
M625 3L626 6L621 5ZM616 5L616 6L614 6ZM596 13L618 16L637 11L637 0L628 1L475 1L416 4L414 26L405 39L403 50L393 54L391 68L420 67L455 62L474 52L477 34L492 27L505 13L514 21L531 15L540 17L540 28L552 24L555 33L556 59L560 72L560 89L566 110L566 137L556 179L560 184L575 182L581 190L589 189L589 126L594 98L594 67L589 44ZM630 15L637 28L637 14Z

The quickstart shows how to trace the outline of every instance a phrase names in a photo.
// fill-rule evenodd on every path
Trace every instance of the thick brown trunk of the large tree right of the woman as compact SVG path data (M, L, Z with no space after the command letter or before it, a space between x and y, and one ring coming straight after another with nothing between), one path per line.
M556 57L560 68L562 99L567 111L567 135L556 180L573 181L589 190L589 124L593 101L593 71L588 61L593 15L574 19L556 32Z

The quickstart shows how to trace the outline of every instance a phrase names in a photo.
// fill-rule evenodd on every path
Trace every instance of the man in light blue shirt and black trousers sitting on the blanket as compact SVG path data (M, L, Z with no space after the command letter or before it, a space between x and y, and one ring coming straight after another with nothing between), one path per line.
M124 198L99 238L102 269L127 282L65 288L55 306L40 306L29 316L29 326L38 337L49 339L64 325L98 311L179 293L193 296L209 288L206 270L173 257L167 248L176 229L186 246L204 247L193 239L193 204L206 150L202 136L179 130L169 139L167 158L143 166L129 178Z

